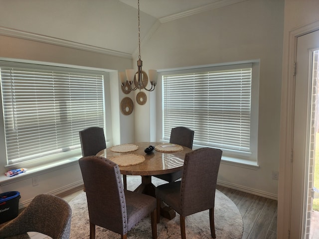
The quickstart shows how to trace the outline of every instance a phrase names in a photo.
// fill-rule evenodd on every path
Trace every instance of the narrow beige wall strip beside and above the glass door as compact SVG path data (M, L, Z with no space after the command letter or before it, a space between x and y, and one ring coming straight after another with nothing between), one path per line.
M290 224L291 150L293 146L292 115L294 107L292 63L295 54L292 39L297 37L294 35L295 32L301 33L303 30L306 30L306 32L307 29L311 30L313 23L316 21L315 25L317 25L317 29L319 28L318 9L318 0L285 0L277 238L288 238Z

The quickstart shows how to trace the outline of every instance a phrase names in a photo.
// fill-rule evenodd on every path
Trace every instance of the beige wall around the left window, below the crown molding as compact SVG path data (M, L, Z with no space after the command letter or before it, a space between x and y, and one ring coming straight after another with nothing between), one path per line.
M106 70L123 70L132 67L132 60L117 56L110 56L85 50L77 50L69 47L62 47L52 44L40 43L37 41L24 40L0 35L0 59L21 59L25 61L41 61L53 64L74 65L88 68L98 68ZM111 72L110 79L115 88L119 91L117 73ZM107 83L109 88L109 83ZM110 94L110 90L107 91ZM114 92L113 92L114 93ZM112 98L113 97L113 98ZM109 97L111 102L106 105L107 137L108 140L119 142L117 134L113 136L112 127L117 128L114 133L125 134L119 127L120 121L116 120L112 124L112 115L115 119L120 119L119 94L112 94ZM122 117L123 118L123 117ZM0 119L0 122L2 119ZM122 123L122 122L121 122ZM3 125L3 121L1 122ZM122 130L123 131L123 130ZM110 136L111 135L111 136ZM0 127L0 151L5 152L4 130ZM0 175L4 175L5 155L0 157ZM32 186L32 177L37 177L39 185ZM82 184L82 175L77 162L65 166L59 166L52 170L42 171L36 174L21 177L22 180L13 180L12 183L0 186L0 193L6 191L19 191L21 194L20 207L27 205L30 200L40 193L57 194L69 190Z

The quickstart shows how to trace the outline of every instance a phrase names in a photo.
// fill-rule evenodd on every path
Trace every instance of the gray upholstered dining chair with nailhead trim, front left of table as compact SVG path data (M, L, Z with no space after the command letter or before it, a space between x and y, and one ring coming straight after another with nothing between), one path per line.
M90 239L95 226L121 234L122 239L151 214L152 236L157 238L156 199L123 189L119 166L109 159L88 156L79 159L87 196Z

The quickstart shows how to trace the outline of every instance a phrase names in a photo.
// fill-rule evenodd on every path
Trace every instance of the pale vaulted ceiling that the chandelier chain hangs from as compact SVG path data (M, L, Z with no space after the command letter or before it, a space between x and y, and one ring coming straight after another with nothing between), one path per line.
M156 23L239 1L140 0L141 39ZM0 0L0 6L0 34L24 32L129 55L138 46L137 0Z

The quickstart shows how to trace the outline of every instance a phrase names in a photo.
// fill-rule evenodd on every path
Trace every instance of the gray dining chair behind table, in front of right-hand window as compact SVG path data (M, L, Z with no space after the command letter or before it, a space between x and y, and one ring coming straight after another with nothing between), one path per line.
M188 148L193 147L194 130L190 128L179 126L172 128L170 131L169 143L176 143ZM156 178L160 178L166 182L174 182L181 178L181 170L173 173L166 173L160 175L154 175Z

